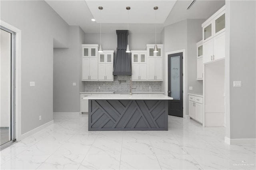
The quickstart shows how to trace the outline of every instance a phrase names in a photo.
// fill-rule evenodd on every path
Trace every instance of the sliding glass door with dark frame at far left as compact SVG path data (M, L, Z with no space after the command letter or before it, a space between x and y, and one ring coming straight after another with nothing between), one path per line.
M1 149L15 141L14 135L14 32L0 29L0 143Z

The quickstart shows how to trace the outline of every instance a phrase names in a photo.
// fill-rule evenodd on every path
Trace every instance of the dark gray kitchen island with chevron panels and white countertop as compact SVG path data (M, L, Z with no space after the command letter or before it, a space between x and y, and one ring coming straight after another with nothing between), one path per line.
M103 94L89 100L88 130L168 130L168 97L162 94Z

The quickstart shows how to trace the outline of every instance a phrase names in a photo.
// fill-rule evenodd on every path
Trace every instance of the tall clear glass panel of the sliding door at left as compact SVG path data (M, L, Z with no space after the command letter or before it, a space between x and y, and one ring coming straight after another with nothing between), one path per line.
M12 34L1 29L1 127L0 127L0 143L1 145L11 140L11 75L12 75L12 51L11 51L11 36Z

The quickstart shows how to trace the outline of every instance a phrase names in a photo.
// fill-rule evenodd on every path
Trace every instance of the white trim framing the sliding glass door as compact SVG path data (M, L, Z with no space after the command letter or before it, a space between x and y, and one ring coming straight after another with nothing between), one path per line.
M0 20L0 25L16 33L16 98L15 98L15 132L16 141L20 141L21 137L21 30Z

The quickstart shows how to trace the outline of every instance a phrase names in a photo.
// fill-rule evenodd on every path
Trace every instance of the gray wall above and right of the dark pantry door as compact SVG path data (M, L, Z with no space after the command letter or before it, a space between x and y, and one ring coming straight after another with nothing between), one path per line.
M182 20L164 28L164 51L185 49L186 53L186 96L187 93L202 93L202 81L196 80L196 43L202 40L202 23L204 19ZM165 70L166 68L164 68ZM168 81L168 80L166 80ZM193 86L193 90L188 90ZM188 115L188 101L186 101Z

